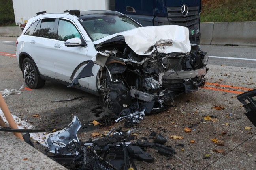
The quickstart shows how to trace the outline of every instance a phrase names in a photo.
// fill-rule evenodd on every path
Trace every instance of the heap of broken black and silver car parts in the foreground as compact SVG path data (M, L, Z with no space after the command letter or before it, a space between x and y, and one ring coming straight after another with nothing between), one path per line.
M129 140L132 139L129 138L130 131L113 133L115 129L103 138L79 142L77 131L80 127L81 123L75 116L68 127L48 134L45 143L48 157L66 167L75 167L78 170L127 170L136 169L133 159L154 162L154 157L145 152L145 148L153 148L165 156L176 154L170 146L158 143L141 140L130 143ZM164 137L160 134L156 137L160 142L165 143L166 141L162 138Z

